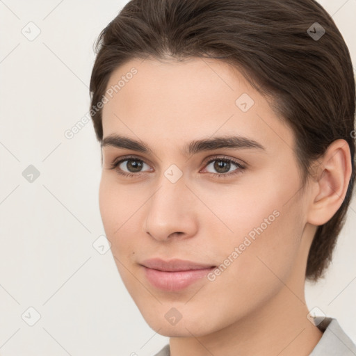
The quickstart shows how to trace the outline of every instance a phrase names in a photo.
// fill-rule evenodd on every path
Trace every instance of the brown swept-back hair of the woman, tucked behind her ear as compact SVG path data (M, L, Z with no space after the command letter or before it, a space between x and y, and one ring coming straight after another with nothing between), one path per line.
M348 191L337 213L318 227L307 261L307 279L323 276L353 193L355 79L348 47L316 1L131 0L100 33L95 50L90 115L100 142L97 103L109 77L133 58L149 57L218 58L241 70L293 129L302 185L327 146L346 140L352 157Z

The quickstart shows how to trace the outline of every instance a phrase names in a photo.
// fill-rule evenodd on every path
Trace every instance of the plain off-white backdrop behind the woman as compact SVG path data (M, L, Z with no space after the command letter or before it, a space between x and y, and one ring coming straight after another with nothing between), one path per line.
M97 35L125 3L0 1L0 355L152 356L168 343L138 312L111 251L95 248L104 228L92 123L65 137L88 113ZM356 0L320 3L356 63ZM353 200L325 279L307 284L309 309L354 341L355 227Z

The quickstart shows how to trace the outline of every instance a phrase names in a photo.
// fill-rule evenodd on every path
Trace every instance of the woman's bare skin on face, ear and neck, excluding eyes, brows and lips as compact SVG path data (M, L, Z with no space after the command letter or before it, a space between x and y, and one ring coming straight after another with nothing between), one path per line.
M133 59L111 74L107 88L132 67L138 73L104 105L104 138L139 139L154 154L102 147L99 205L118 271L145 321L170 337L172 356L309 355L322 333L307 318L307 254L316 226L346 195L346 141L330 145L300 190L293 131L238 70L205 58ZM242 93L254 100L245 113L235 104ZM191 140L232 133L266 149L180 152ZM140 175L118 174L130 172L127 161L110 169L130 154L145 163ZM227 171L238 173L218 177L216 161L205 164L216 155L248 168L231 163ZM164 175L172 164L183 174L175 183ZM140 262L153 257L220 265L273 211L280 215L216 280L170 292L146 279ZM172 307L181 314L175 325L165 318Z

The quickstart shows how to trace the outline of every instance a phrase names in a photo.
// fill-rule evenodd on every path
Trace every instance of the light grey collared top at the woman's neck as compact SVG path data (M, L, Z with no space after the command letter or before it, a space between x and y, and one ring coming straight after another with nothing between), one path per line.
M334 318L316 317L314 323L323 332L323 336L316 344L309 356L355 356L356 346L341 329ZM165 345L154 356L170 356L170 345Z

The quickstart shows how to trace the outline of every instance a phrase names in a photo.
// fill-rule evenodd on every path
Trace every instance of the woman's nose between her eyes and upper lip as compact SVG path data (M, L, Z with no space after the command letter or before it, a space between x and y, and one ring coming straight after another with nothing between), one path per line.
M143 229L157 241L190 238L197 233L198 204L183 177L172 183L163 176L159 188L145 204Z

